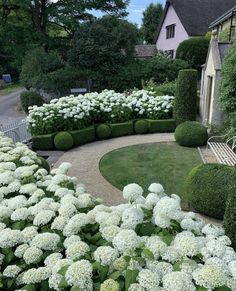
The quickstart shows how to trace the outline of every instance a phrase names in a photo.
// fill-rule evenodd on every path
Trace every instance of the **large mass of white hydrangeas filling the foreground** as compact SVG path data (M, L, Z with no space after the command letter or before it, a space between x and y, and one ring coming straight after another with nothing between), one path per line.
M67 175L48 173L0 135L0 290L236 290L224 229L183 213L160 184L105 206Z

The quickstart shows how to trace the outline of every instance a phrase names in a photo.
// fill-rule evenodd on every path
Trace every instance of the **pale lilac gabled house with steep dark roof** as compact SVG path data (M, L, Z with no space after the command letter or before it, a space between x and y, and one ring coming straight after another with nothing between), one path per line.
M179 44L204 36L209 24L235 5L236 0L167 0L155 43L158 50L175 57Z

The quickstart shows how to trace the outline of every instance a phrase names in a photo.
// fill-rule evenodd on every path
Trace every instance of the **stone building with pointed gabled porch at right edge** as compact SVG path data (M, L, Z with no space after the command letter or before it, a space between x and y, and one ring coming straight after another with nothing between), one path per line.
M225 55L236 40L236 6L213 21L210 28L212 38L202 69L200 117L204 124L220 125L224 120L219 100L221 69Z

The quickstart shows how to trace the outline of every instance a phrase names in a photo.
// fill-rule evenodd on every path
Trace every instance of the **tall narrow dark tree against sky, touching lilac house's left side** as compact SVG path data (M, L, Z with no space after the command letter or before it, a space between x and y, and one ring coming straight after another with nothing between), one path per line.
M144 40L152 44L154 43L154 37L157 27L160 23L160 19L163 13L163 7L161 4L151 3L143 12L143 24L142 31Z

